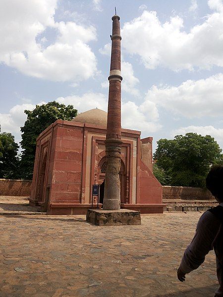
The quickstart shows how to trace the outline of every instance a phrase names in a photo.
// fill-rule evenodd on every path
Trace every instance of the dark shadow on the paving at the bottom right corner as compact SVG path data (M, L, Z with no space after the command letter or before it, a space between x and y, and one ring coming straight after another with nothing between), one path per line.
M176 292L172 294L162 294L162 295L154 295L154 297L196 297L196 296L204 296L211 297L215 296L215 292L218 290L218 285L212 285L201 288L192 288L191 290ZM149 297L151 295L147 295L145 297Z

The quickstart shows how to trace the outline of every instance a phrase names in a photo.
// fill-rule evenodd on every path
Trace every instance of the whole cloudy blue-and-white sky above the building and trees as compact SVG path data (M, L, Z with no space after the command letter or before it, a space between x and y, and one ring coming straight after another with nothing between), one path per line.
M114 6L122 127L223 148L223 0L1 0L1 132L19 142L24 109L41 102L107 110Z

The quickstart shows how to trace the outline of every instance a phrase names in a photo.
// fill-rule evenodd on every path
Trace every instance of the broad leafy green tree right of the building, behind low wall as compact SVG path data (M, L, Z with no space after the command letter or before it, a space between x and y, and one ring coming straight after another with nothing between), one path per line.
M172 186L205 187L210 166L223 164L222 149L210 135L186 133L157 144L156 164L171 177Z

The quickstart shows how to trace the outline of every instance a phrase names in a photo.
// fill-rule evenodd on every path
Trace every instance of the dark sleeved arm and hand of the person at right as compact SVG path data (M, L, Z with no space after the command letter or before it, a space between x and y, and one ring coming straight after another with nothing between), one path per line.
M179 281L185 281L185 274L197 269L204 262L206 254L213 249L213 241L218 233L219 224L210 211L206 211L201 216L195 236L186 248L177 270Z

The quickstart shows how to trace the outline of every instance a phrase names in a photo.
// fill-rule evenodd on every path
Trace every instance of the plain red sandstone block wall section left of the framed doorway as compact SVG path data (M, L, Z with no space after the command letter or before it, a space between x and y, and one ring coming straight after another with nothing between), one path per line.
M58 125L54 137L53 178L50 201L54 203L79 203L83 167L84 128ZM54 141L53 140L53 141ZM52 149L52 152L53 152ZM51 181L49 180L49 184Z

